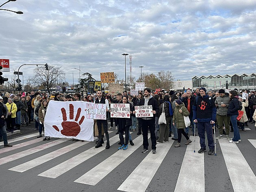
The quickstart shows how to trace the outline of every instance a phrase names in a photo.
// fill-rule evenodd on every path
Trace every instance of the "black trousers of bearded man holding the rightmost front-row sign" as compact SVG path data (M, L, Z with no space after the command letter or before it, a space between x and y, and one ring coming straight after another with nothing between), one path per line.
M148 149L148 128L150 129L151 148L156 149L155 119L141 119L143 149Z

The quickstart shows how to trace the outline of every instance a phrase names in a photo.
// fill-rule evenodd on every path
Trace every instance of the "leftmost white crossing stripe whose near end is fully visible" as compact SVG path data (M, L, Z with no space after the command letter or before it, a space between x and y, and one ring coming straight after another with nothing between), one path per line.
M58 149L56 151L52 151L51 153L47 153L46 155L43 155L41 157L37 157L36 159L33 159L31 161L28 161L26 163L20 164L18 166L15 166L13 168L10 168L9 170L13 170L13 171L17 171L17 172L24 172L26 170L29 170L31 168L34 168L38 165L41 165L45 162L48 162L56 157L59 157L60 155L63 155L69 151L72 151L78 147L81 147L85 144L89 143L89 141L85 141L85 142L75 142L71 145L68 145L66 147L63 147L61 149Z

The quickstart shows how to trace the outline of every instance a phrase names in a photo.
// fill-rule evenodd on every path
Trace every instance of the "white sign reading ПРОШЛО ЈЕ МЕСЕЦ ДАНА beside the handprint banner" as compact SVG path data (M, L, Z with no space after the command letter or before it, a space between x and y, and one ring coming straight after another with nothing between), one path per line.
M85 102L85 118L106 120L106 104Z

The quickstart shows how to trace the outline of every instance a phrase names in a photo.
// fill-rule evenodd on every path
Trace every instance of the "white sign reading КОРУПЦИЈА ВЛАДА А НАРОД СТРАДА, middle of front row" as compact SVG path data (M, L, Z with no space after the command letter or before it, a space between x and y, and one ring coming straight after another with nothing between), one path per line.
M130 118L130 104L110 104L110 116L115 118Z

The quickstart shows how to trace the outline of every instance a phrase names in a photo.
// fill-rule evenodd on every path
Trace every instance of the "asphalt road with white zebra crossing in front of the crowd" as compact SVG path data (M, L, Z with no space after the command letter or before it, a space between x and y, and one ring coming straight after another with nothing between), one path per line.
M215 156L197 153L198 137L195 153L194 142L186 146L182 137L181 147L169 140L157 144L152 154L151 147L141 153L142 135L137 131L131 134L135 145L119 151L115 130L110 149L105 149L106 142L95 149L94 142L42 141L32 124L8 138L13 147L0 142L0 192L255 192L256 130L251 123L247 128L240 130L239 144L216 140Z

